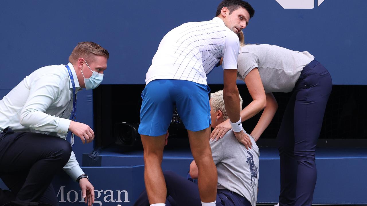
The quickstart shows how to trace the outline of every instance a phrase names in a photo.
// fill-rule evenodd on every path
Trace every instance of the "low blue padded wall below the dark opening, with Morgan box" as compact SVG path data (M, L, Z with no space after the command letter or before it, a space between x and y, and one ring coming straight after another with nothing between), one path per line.
M97 201L103 205L131 206L144 189L144 166L142 151L113 154L103 152L101 167L82 167L93 184ZM185 177L192 157L186 152L165 152L163 170L172 170ZM279 196L279 155L276 148L260 148L258 203L276 203ZM317 148L317 183L313 197L314 204L367 205L365 188L367 177L366 148ZM72 206L80 201L80 188L65 173L60 172L52 182L60 206ZM0 188L6 188L0 180ZM97 192L97 191L101 191ZM110 192L110 191L112 192ZM129 202L111 202L118 199L117 190L126 190ZM75 192L78 194L76 198ZM107 191L106 193L104 193ZM111 196L113 193L113 197ZM63 196L63 199L61 199ZM77 202L75 198L78 199ZM105 199L106 198L106 199ZM123 198L121 198L123 199ZM63 202L65 201L65 202ZM116 203L116 204L115 204ZM96 203L95 205L101 205Z

